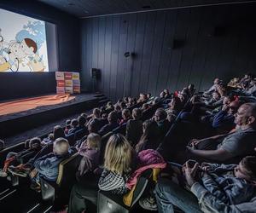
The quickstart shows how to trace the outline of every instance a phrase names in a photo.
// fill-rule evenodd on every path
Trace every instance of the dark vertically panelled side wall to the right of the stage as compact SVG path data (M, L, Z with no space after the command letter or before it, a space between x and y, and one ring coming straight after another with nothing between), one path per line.
M237 4L84 19L83 87L92 86L91 67L102 72L97 90L112 100L256 73L255 10Z

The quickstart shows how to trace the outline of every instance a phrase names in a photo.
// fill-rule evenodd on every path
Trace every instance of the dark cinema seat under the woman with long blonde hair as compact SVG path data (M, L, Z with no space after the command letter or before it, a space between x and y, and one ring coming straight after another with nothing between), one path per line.
M99 191L97 202L97 213L129 213L134 210L135 204L142 198L143 193L148 186L148 181L152 176L152 170L145 170L138 178L137 185L134 189L131 199L131 206L124 204L123 196L111 192Z

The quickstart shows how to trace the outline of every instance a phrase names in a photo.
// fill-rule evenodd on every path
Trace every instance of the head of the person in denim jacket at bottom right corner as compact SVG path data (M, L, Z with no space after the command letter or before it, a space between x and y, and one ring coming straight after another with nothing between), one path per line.
M247 156L242 158L234 170L235 176L256 184L256 157Z

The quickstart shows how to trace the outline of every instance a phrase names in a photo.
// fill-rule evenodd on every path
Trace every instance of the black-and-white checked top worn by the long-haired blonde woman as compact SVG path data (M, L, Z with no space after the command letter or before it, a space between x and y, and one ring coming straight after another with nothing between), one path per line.
M100 177L98 186L100 190L111 191L115 194L124 194L127 192L125 186L128 181L130 174L124 174L123 176L113 173L112 171L104 169L102 176Z

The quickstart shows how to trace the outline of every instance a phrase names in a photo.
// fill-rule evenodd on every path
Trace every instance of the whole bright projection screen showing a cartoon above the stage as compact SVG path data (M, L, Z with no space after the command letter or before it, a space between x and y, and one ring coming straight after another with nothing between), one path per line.
M0 9L0 72L49 72L43 20Z

